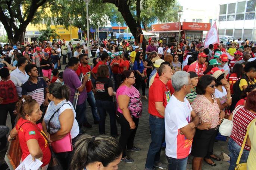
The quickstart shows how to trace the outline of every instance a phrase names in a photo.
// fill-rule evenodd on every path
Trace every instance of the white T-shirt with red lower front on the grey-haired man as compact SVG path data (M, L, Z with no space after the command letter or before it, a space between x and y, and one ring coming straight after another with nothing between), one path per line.
M181 102L174 95L171 96L165 108L166 156L182 159L190 154L193 140L187 139L185 135L180 135L179 129L188 125L192 110L186 98L184 98L184 102Z

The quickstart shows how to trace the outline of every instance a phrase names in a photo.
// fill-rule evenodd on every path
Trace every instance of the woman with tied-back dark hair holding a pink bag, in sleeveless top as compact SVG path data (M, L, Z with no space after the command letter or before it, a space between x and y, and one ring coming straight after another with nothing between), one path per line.
M68 86L52 83L48 87L47 96L51 100L43 119L43 130L47 135L54 153L62 167L68 167L79 127L75 119L75 110L69 102Z

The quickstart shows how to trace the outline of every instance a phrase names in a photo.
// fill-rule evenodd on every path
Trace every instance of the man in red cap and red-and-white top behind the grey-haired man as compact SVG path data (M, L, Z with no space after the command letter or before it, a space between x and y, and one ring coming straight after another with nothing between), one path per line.
M194 71L196 72L196 74L198 75L198 77L203 76L203 72L206 70L206 66L205 66L205 61L206 61L206 57L207 55L203 52L198 54L198 60L192 64L190 64L190 66L188 67L188 72L189 71Z

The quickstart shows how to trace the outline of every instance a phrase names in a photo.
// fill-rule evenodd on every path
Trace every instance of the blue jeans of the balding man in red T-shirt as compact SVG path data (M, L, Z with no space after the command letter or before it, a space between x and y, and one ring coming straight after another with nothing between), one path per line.
M161 146L165 137L165 119L149 116L149 126L151 131L151 143L147 152L145 167L152 169L155 162L160 160Z

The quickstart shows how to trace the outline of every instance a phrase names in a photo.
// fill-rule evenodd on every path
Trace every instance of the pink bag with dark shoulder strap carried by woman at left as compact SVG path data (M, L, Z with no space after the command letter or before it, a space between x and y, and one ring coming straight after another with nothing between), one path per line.
M63 105L68 104L69 106L71 106L69 103L64 103ZM62 106L63 106L62 105ZM53 118L53 116L55 115L56 112L58 112L60 110L60 108L62 107L60 106L59 109L57 109L53 115L51 116L51 118L49 119L48 122L48 129L47 132L50 134L50 121ZM66 134L65 137L63 137L62 139L59 139L57 141L54 141L51 143L51 147L53 148L54 153L62 153L62 152L70 152L73 151L73 145L72 145L72 138L71 138L71 133L69 132L68 134Z

